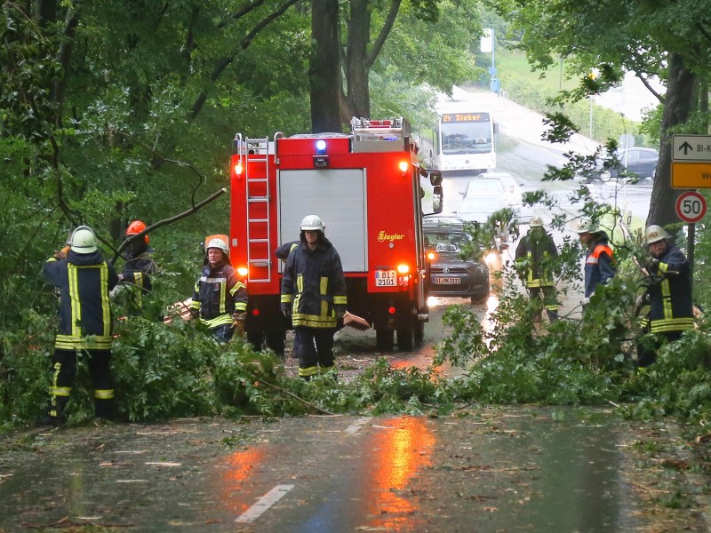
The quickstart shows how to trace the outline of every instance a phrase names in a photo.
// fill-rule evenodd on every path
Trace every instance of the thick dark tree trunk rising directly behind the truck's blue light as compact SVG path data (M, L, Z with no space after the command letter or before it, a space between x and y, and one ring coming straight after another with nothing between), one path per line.
M311 0L313 51L308 69L311 130L340 131L340 53L338 0Z

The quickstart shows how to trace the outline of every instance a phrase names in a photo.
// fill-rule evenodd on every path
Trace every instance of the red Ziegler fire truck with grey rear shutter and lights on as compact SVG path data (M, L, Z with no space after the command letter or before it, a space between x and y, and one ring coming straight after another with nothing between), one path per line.
M427 259L422 233L428 212L442 211L442 175L420 168L418 148L402 118L356 119L352 133L273 139L237 134L231 158L230 259L246 271L245 330L284 350L290 324L280 311L284 265L275 250L299 241L300 221L321 217L339 251L348 311L376 331L378 348L410 350L427 322ZM421 183L420 180L424 180ZM425 194L425 189L431 195Z

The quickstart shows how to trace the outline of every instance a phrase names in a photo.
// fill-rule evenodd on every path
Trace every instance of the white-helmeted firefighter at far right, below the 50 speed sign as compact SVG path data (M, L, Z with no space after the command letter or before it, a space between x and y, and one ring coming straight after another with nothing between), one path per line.
M644 243L650 257L643 261L650 274L650 310L643 326L654 339L637 345L637 364L646 367L657 360L657 350L665 342L673 342L685 330L694 327L691 303L691 268L683 251L669 242L663 227L650 226L644 231Z

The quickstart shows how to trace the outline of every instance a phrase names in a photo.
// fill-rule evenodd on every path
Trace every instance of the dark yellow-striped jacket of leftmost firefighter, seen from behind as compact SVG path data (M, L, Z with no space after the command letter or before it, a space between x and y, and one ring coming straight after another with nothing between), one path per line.
M114 338L108 292L118 283L114 266L100 251L69 251L67 259L47 259L43 274L60 290L60 329L54 346L110 350Z

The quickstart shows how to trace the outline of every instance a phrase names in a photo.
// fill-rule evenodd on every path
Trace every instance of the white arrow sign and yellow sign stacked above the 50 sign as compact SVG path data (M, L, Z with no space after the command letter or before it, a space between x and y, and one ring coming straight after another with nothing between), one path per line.
M672 136L672 187L711 188L711 135Z

